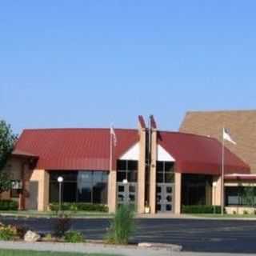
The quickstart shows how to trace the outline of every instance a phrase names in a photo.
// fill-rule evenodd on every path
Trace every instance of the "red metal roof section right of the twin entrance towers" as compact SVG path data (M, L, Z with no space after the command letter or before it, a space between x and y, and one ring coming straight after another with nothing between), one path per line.
M215 138L178 132L158 132L158 143L176 160L176 171L221 174L222 144ZM250 167L225 148L225 174L249 174Z

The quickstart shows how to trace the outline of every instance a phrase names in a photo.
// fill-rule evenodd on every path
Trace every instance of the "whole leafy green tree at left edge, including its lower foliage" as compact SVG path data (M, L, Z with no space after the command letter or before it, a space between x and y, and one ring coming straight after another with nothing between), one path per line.
M0 120L0 194L10 190L12 186L10 174L2 169L6 166L7 158L14 148L16 139L17 136L11 130L10 125L6 124L5 121Z

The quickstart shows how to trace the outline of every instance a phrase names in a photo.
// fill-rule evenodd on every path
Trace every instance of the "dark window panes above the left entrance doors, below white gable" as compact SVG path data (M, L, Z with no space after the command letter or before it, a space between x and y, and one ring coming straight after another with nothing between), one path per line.
M138 178L138 161L118 160L117 181L137 182Z

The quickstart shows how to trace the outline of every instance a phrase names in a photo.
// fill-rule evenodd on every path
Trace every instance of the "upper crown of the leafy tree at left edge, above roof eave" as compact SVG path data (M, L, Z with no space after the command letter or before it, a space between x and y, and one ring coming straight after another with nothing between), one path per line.
M6 166L7 158L10 156L14 148L14 142L17 135L13 133L10 125L5 121L0 120L0 170Z

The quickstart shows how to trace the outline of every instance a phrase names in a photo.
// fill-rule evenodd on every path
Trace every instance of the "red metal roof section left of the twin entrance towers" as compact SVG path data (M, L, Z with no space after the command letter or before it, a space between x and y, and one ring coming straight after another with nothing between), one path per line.
M115 129L118 158L138 142L138 130ZM110 129L39 129L24 130L14 153L38 156L38 169L109 170Z

